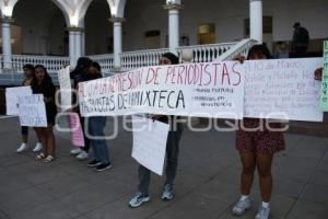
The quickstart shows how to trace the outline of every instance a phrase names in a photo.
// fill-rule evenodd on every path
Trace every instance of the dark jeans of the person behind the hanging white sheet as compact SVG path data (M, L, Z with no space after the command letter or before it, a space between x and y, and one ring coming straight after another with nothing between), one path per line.
M174 186L174 180L177 172L178 164L178 153L179 153L179 141L183 134L181 124L177 124L177 130L169 131L167 136L166 143L166 181L165 184ZM151 171L144 168L143 165L139 166L139 186L138 189L140 193L149 194L149 186L151 180Z

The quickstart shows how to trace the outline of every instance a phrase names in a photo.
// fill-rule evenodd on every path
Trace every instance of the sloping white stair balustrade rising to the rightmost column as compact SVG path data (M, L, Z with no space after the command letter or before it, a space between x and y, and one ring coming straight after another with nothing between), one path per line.
M237 55L247 56L248 50L251 46L257 44L257 41L251 38L245 38L241 41L239 43L235 44L229 51L224 53L222 56L218 57L218 60L224 61L224 60L231 60Z

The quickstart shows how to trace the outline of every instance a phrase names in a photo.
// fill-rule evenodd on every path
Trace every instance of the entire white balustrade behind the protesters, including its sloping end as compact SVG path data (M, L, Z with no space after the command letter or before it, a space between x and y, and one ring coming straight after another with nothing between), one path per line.
M246 56L248 49L256 44L254 39L243 39L241 42L209 44L197 46L184 46L177 49L180 60L185 51L189 54L189 59L192 62L209 62L213 60L230 60L236 55ZM136 68L159 65L159 59L167 48L127 51L120 54L121 71L127 71ZM89 56L91 59L99 62L104 73L116 72L114 70L113 54ZM185 59L184 59L185 60ZM56 56L30 56L30 55L13 55L12 71L22 72L25 64L44 65L49 72L57 72L65 66L69 65L69 57ZM3 55L0 55L0 72L3 68Z

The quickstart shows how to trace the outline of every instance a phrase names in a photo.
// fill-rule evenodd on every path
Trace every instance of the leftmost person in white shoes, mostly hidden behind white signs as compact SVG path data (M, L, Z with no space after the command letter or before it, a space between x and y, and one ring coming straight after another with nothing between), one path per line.
M33 81L33 74L34 74L34 66L27 64L23 66L24 71L24 80L22 85L28 87L32 84ZM24 152L27 149L27 141L28 141L28 127L22 126L22 145L16 150L17 153ZM43 149L43 145L39 142L39 136L37 135L38 142L35 145L35 148L33 149L33 152L38 152Z

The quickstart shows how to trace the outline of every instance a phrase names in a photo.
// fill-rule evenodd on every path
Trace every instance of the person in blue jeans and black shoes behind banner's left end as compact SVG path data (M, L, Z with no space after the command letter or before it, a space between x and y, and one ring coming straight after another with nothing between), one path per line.
M87 76L84 76L84 81L102 78L102 68L98 62L92 62ZM108 149L105 140L104 128L106 126L105 116L89 117L89 132L91 147L93 150L94 160L87 166L95 168L96 171L102 172L112 168L109 161Z

